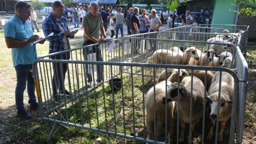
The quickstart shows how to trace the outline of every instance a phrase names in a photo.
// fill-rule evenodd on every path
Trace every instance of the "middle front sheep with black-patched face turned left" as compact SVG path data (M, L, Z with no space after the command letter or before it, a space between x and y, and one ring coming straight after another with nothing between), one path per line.
M178 82L171 83L168 86L167 97L163 97L162 103L175 101L176 103L179 101L180 105L177 107L177 111L179 111L179 119L181 122L181 135L179 138L180 142L184 141L184 129L185 123L189 123L190 119L190 96L191 96L191 85L193 85L193 104L192 108L192 123L191 123L191 137L193 134L193 130L195 124L201 119L203 113L203 100L205 87L204 83L197 78L193 77L193 83L191 84L191 76L185 77L182 82L180 82L178 87ZM178 93L179 89L179 93ZM206 92L207 93L207 92ZM167 100L166 100L167 99ZM190 141L190 140L188 140Z

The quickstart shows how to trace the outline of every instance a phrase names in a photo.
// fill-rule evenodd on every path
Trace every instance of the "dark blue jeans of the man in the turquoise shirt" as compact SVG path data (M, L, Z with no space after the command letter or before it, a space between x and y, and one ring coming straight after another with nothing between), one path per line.
M23 99L24 99L24 91L26 89L26 84L27 84L27 91L28 91L28 103L30 105L34 105L36 103L35 82L30 72L30 69L32 69L32 64L15 66L16 77L17 77L17 85L15 89L15 101L16 101L16 109L18 112L24 110Z

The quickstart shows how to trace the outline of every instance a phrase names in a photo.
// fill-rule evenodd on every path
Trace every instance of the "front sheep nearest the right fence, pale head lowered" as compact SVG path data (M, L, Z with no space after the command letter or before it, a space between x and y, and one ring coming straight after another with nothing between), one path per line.
M208 91L209 95L207 96L207 99L210 102L211 125L210 125L210 131L207 138L208 139L212 138L212 130L214 129L214 125L217 119L217 114L219 109L219 121L221 123L220 123L220 132L218 135L218 141L222 141L222 133L225 128L225 124L228 121L228 119L231 117L231 112L232 112L234 79L227 72L222 72L221 87L219 87L219 83L220 83L219 78L220 78L220 72L218 71L214 75L214 78L212 78L211 86ZM220 90L220 106L218 107L219 88L221 90Z

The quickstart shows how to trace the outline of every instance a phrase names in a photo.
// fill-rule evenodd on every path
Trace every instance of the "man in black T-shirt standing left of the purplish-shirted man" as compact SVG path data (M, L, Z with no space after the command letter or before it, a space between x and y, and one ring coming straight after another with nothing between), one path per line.
M133 15L131 17L131 32L132 34L139 34L140 33L140 19L138 19L138 8L134 7Z

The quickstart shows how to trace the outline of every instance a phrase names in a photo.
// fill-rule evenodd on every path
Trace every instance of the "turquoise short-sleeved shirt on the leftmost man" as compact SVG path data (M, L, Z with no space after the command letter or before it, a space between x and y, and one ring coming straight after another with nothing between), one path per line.
M14 38L16 41L28 40L34 35L30 23L22 21L17 16L9 19L4 26L4 37ZM37 58L36 46L29 43L25 46L12 48L14 67L17 65L33 64Z

